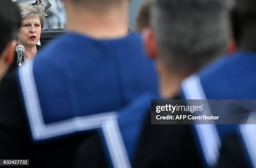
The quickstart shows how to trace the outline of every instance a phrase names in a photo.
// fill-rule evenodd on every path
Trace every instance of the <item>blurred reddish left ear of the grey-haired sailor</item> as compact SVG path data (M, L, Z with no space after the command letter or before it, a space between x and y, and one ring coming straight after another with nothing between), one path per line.
M142 31L142 37L146 55L150 59L156 59L158 55L158 50L153 30L149 27L144 28Z

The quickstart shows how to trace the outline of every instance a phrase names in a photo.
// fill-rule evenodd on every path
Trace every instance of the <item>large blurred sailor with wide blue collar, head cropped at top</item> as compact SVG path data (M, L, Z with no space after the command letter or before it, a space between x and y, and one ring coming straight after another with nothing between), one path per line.
M5 94L0 86L0 158L72 168L89 131L137 96L157 92L141 36L127 34L129 0L64 3L68 33L6 82L18 84Z

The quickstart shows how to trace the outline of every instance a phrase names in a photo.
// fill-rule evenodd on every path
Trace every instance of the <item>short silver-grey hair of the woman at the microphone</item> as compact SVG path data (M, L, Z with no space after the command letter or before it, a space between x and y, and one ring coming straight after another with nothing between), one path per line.
M45 8L44 5L29 5L26 3L20 3L18 5L20 7L21 17L22 19L27 17L39 16L41 27L43 29L45 23Z

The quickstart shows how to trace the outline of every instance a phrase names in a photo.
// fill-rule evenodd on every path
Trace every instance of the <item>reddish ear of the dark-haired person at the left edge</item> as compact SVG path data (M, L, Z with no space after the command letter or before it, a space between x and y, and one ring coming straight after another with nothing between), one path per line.
M14 57L14 52L15 52L15 47L17 45L16 40L12 40L7 44L5 47L3 54L2 54L2 59L5 64L10 65L13 62L13 57Z

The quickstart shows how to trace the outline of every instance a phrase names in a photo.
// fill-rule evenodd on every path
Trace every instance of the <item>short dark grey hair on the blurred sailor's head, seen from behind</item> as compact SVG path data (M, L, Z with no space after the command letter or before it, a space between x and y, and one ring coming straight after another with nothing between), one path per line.
M196 71L225 52L231 27L226 0L153 0L150 26L167 68Z

